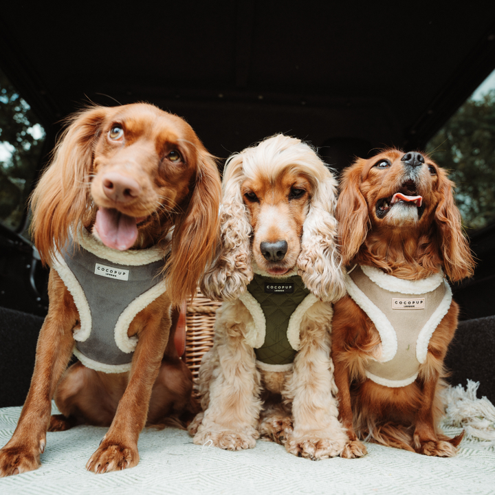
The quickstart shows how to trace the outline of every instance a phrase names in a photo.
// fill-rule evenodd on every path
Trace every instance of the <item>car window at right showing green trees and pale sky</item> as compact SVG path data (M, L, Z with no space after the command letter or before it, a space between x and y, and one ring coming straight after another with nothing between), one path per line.
M426 151L450 170L465 228L495 222L495 71L452 115Z

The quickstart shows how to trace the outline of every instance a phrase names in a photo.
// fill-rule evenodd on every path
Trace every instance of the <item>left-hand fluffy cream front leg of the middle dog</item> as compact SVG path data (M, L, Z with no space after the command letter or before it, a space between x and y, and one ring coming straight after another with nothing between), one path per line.
M197 445L211 441L225 450L242 450L253 448L259 438L260 376L244 329L243 322L232 325L225 320L225 313L217 320L212 352L218 353L218 367L210 382L208 408L193 440Z

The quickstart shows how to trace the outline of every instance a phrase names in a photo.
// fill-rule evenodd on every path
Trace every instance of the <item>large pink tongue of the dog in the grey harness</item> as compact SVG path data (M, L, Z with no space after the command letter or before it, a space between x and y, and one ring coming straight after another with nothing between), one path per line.
M132 248L137 239L136 219L113 208L98 209L95 227L104 245L119 251Z

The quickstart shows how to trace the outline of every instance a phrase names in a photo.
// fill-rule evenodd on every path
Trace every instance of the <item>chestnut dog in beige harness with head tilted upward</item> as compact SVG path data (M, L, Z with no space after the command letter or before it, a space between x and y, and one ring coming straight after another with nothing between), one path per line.
M366 452L358 437L453 456L462 436L439 431L439 391L459 308L443 273L459 281L474 262L452 182L427 155L387 150L344 171L336 217L350 269L332 330L342 456Z

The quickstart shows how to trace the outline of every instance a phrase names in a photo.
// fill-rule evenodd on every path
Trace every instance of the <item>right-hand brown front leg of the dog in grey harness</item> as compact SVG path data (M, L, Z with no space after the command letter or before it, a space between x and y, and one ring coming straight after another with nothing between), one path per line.
M86 464L88 471L123 470L139 462L137 439L146 424L151 391L170 334L171 318L163 298L151 303L133 321L133 325L142 325L142 328L137 334L139 340L133 355L129 383L107 434Z

